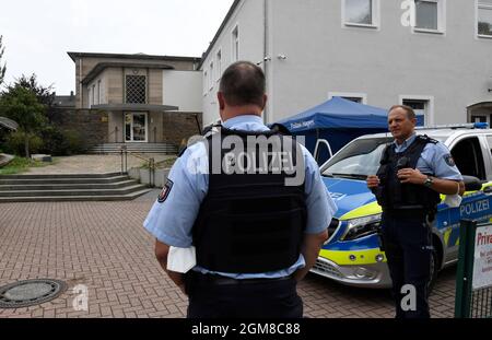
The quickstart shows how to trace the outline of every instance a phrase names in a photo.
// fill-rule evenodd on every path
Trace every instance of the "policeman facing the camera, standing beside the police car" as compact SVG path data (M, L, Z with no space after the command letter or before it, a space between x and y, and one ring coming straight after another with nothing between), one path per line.
M429 318L432 227L440 194L462 195L465 185L449 150L441 142L414 132L413 109L389 109L388 127L395 141L387 145L376 176L367 187L383 208L382 236L393 281L397 318ZM437 270L437 268L435 269ZM414 288L415 305L402 306Z

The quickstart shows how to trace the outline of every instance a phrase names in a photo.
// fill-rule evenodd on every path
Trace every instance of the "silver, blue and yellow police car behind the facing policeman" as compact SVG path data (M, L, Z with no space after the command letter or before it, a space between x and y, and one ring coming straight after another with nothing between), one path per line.
M435 279L441 269L457 261L459 221L492 218L492 129L475 124L417 129L417 133L436 139L450 150L466 185L460 207L449 208L444 202L437 207L431 266ZM338 211L329 226L330 238L312 272L354 286L391 285L385 253L379 249L382 209L365 179L376 174L382 153L393 140L389 133L360 137L320 167Z

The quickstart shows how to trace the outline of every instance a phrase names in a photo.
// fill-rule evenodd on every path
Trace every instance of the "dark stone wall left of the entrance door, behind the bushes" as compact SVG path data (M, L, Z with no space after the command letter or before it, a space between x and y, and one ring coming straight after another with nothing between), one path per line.
M108 140L108 114L95 109L54 109L55 125L63 130L79 132L84 149L106 143Z

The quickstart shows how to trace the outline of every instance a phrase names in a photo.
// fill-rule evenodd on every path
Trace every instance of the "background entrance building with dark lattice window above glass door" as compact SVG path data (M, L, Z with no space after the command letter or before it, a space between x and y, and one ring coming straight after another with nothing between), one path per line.
M75 110L97 116L107 129L99 142L179 144L199 132L199 58L68 55L75 63Z

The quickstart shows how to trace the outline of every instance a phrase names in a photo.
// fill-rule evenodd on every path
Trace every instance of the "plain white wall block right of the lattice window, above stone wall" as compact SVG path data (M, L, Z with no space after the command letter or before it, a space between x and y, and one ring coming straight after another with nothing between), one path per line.
M201 72L163 70L162 77L163 105L178 106L184 113L201 113Z

